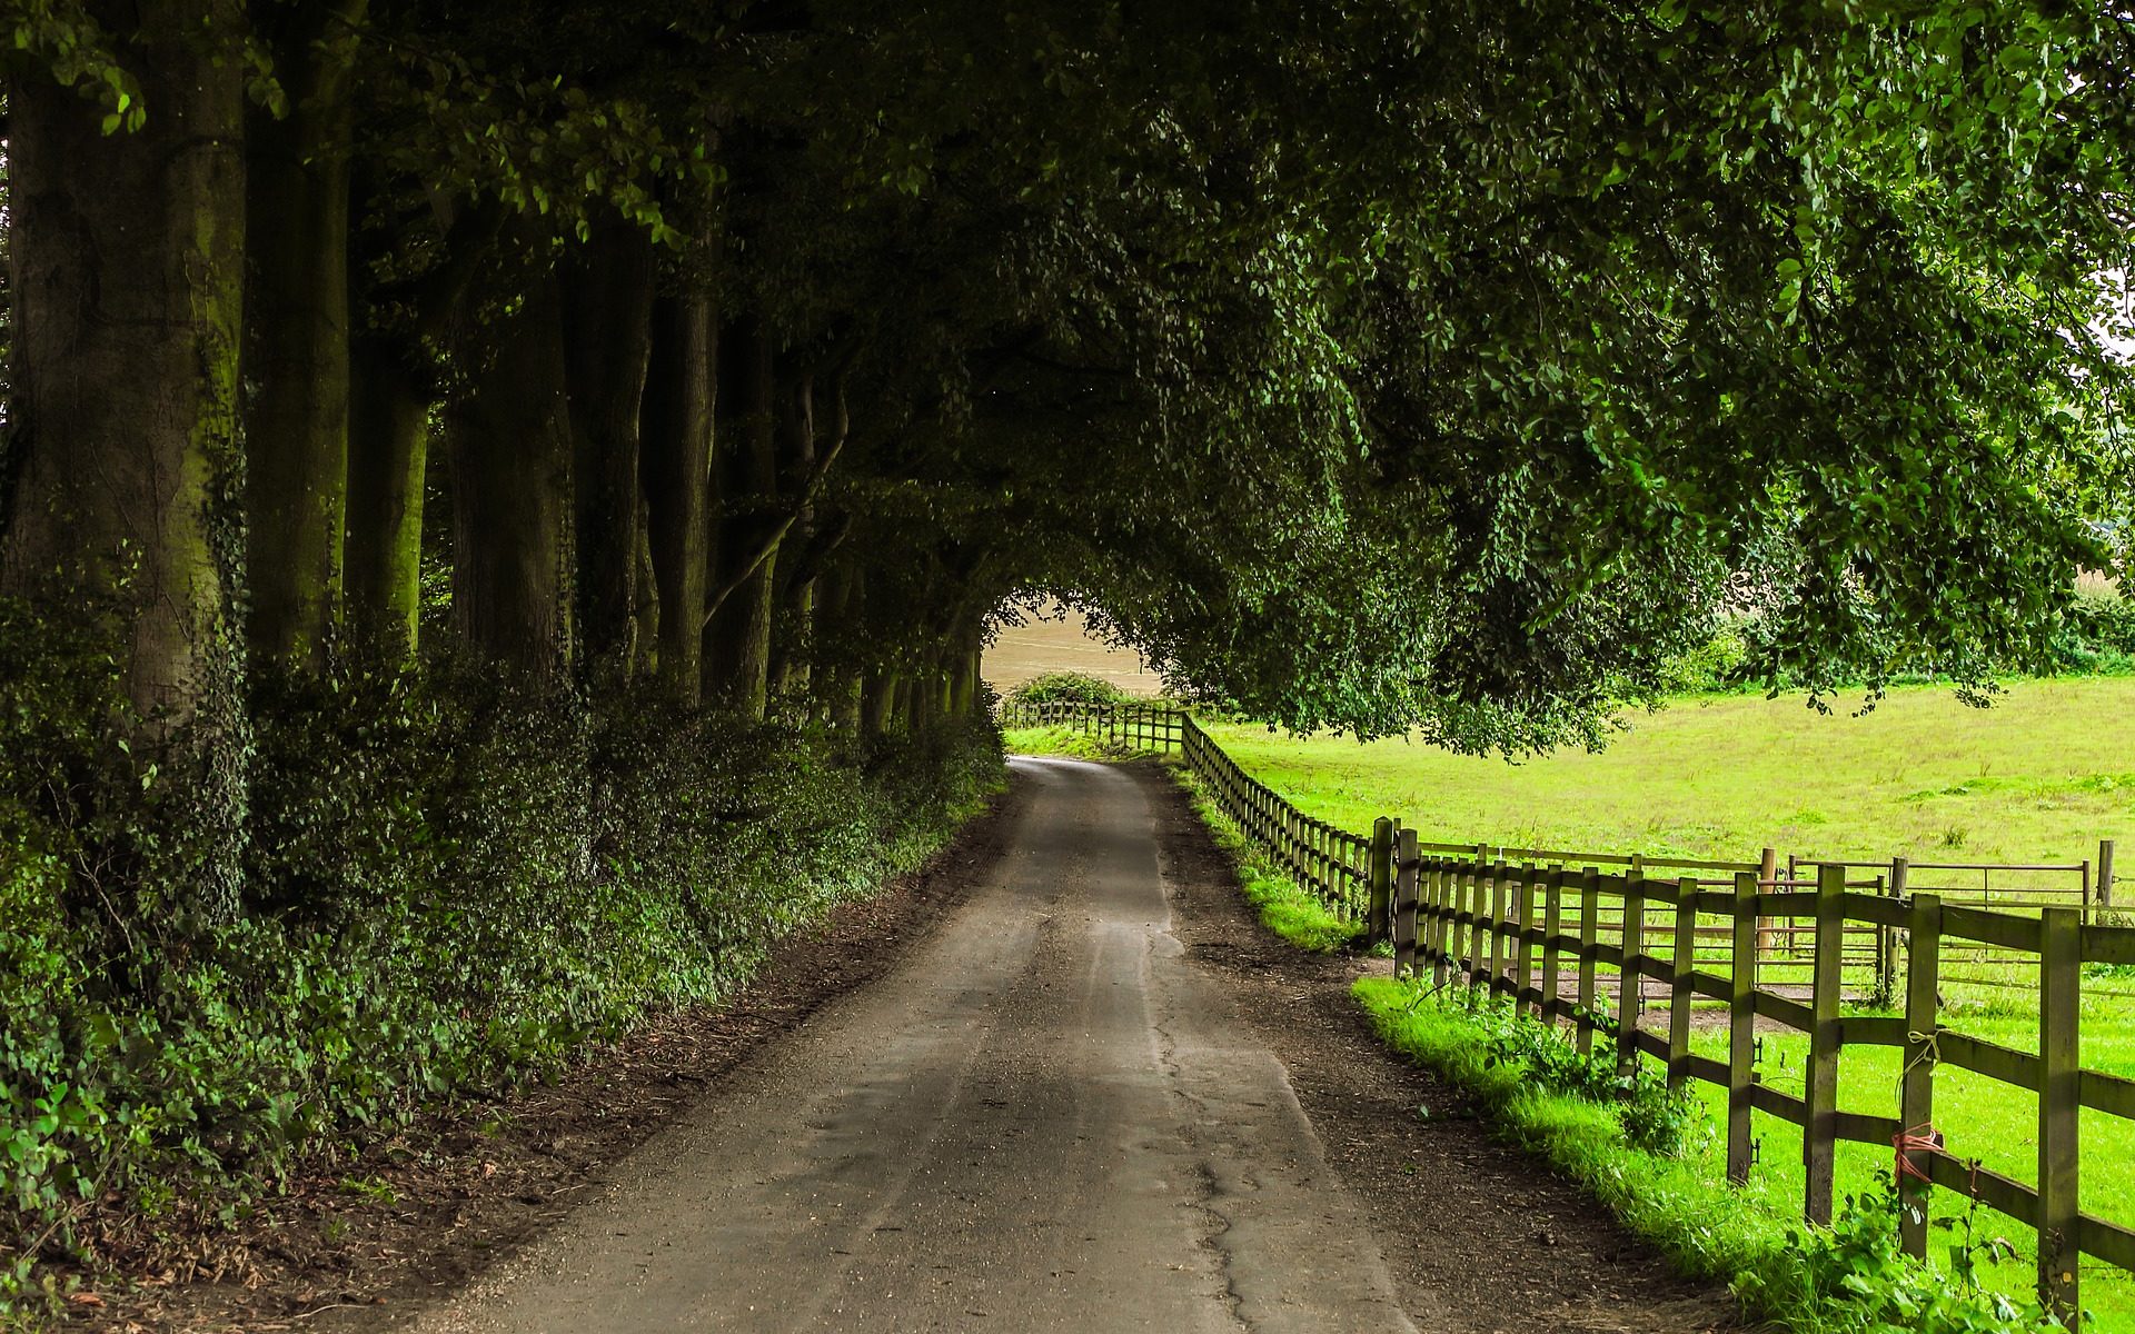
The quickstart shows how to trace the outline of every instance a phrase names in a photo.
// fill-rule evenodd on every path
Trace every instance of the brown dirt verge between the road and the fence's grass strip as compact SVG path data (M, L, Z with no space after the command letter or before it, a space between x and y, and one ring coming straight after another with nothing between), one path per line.
M1307 954L1266 931L1187 794L1153 764L1134 768L1157 811L1172 933L1290 1067L1420 1328L1744 1328L1723 1287L1678 1279L1576 1185L1494 1142L1452 1084L1390 1054L1349 999L1356 978L1388 965Z

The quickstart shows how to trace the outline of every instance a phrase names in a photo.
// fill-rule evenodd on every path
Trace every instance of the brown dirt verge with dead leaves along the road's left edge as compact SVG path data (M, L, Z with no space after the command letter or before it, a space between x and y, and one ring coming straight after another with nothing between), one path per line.
M922 869L779 941L726 1005L662 1016L553 1084L459 1103L316 1163L269 1202L271 1217L169 1238L167 1251L192 1257L184 1268L137 1268L130 1289L77 1296L62 1328L305 1330L325 1311L386 1315L468 1283L754 1052L895 967L993 869L1027 800L1016 781Z

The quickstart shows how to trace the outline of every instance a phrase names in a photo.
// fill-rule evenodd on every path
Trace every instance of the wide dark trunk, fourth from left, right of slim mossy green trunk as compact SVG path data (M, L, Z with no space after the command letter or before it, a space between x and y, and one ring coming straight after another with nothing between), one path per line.
M453 408L453 617L536 681L572 666L572 431L555 275L491 324L495 354Z

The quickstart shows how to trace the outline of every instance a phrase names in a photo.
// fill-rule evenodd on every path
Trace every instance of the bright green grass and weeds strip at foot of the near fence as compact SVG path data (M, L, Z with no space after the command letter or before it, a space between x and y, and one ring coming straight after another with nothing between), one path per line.
M1847 1197L1825 1229L1791 1223L1789 1202L1708 1178L1695 1150L1712 1127L1695 1106L1650 1071L1625 1080L1612 1057L1580 1057L1505 999L1392 978L1358 980L1356 999L1388 1046L1477 1099L1503 1138L1593 1191L1680 1272L1731 1283L1755 1319L1796 1334L2062 1328L2037 1304L1902 1255L1887 1182Z

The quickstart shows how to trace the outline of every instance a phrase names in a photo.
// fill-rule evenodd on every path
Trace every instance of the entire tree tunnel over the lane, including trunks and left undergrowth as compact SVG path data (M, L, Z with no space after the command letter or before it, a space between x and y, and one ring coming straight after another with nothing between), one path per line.
M2105 6L4 9L41 1217L715 995L991 781L1018 595L1520 751L2124 555Z

